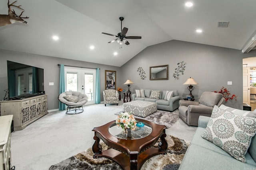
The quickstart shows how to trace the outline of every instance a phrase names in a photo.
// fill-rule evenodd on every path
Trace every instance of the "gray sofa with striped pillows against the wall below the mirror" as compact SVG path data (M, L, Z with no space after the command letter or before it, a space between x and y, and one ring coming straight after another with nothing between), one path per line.
M177 109L179 105L180 96L178 93L178 90L168 90L168 91L174 91L173 97L170 98L169 101L164 100L164 97L166 95L167 90L160 90L160 98L159 99L152 99L149 98L151 94L151 89L144 89L144 98L137 98L136 94L132 94L132 100L142 100L142 101L148 101L148 102L156 102L157 103L157 109L162 110L168 110L168 111L174 111Z

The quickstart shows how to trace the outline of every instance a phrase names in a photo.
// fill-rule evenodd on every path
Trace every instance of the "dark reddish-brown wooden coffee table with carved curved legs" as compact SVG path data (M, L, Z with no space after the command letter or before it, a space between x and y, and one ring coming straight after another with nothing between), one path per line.
M124 170L140 170L144 162L157 154L166 154L168 144L165 125L158 125L143 119L136 119L144 123L144 127L132 131L131 137L124 137L122 129L118 132L116 121L111 121L100 127L94 127L94 144L92 151L94 158L106 157L116 161ZM117 130L115 130L117 129ZM158 148L152 147L158 142ZM111 149L102 150L100 139Z

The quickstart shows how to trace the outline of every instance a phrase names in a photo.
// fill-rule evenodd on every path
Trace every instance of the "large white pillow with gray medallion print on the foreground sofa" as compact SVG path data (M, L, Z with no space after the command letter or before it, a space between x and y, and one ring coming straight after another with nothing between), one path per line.
M246 154L256 133L256 118L236 115L214 106L202 138L214 143L228 154L246 162Z

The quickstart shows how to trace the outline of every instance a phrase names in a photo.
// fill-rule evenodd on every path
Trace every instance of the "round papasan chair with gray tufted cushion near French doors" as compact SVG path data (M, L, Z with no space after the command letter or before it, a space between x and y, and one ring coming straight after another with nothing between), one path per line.
M83 105L87 103L88 97L81 92L67 91L61 93L58 100L68 106L66 114L76 114L84 111Z

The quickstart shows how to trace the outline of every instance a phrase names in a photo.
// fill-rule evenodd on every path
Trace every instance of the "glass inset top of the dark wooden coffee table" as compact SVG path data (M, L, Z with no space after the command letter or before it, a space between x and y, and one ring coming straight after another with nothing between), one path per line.
M123 133L123 129L121 127L118 128L116 123L113 123L108 129L108 131L112 136L120 139L141 139L150 135L150 133L152 132L152 127L150 125L148 125L145 122L142 123L144 124L144 126L141 126L140 122L137 122L137 124L140 125L140 127L136 126L135 131L131 131L131 137L128 137L127 133Z

